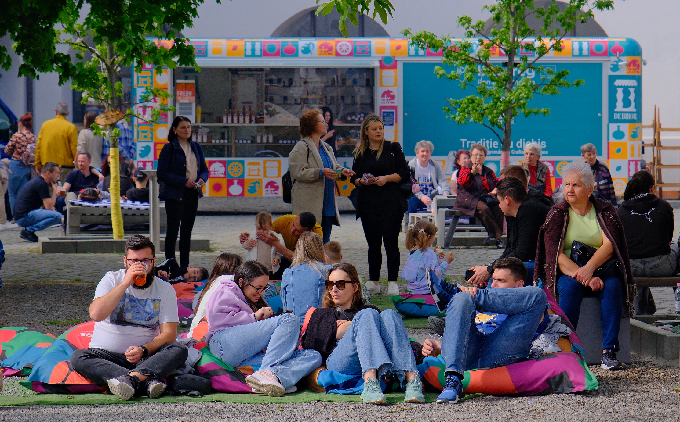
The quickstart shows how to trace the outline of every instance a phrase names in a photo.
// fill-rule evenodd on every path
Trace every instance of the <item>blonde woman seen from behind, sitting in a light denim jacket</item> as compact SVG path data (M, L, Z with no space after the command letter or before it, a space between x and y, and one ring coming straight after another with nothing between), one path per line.
M293 311L301 320L305 319L307 307L318 308L326 292L324 282L326 272L326 253L321 236L314 232L304 232L295 245L290 268L281 277L281 301L286 311Z

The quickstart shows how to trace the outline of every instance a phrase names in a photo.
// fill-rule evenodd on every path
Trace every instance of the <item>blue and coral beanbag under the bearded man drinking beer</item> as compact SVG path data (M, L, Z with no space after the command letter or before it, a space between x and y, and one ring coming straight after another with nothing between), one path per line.
M27 381L20 384L38 393L73 394L99 393L99 387L86 379L71 366L71 354L78 349L90 347L95 321L79 323L58 336L44 355L33 366Z

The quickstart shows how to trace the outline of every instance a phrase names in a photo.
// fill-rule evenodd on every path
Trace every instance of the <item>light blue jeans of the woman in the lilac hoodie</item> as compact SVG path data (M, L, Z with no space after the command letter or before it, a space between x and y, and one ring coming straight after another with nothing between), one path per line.
M242 326L224 328L213 334L211 353L233 367L260 365L270 370L289 389L321 365L316 350L297 349L300 320L290 313ZM267 349L262 353L263 349Z

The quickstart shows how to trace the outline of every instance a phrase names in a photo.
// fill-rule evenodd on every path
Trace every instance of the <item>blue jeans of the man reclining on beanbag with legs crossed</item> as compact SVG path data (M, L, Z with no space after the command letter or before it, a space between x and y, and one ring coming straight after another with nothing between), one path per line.
M455 294L446 306L441 345L446 372L463 374L469 369L495 368L526 359L546 303L545 292L534 286L487 287L475 296ZM487 335L477 330L477 311L508 317Z

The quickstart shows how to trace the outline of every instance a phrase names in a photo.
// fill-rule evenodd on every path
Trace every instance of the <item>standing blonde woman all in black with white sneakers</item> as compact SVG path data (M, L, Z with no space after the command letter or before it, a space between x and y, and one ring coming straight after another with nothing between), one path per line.
M384 141L385 125L369 114L361 125L360 143L354 151L352 183L358 188L356 217L361 218L369 244L369 281L371 294L380 292L378 280L382 266L381 244L387 254L388 294L398 294L399 232L408 203L399 185L409 181L411 171L398 142ZM394 283L394 284L392 284ZM395 292L396 290L396 292Z

